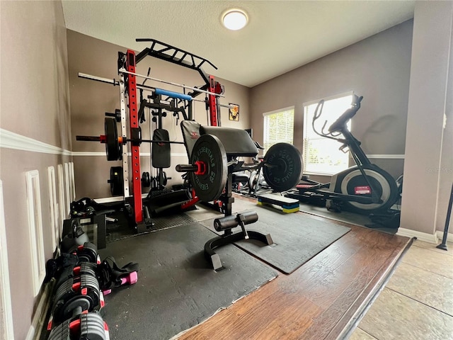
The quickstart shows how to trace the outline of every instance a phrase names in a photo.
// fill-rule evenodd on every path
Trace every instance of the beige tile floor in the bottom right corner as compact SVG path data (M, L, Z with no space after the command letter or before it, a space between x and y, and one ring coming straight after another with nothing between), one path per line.
M415 240L350 340L453 339L453 243Z

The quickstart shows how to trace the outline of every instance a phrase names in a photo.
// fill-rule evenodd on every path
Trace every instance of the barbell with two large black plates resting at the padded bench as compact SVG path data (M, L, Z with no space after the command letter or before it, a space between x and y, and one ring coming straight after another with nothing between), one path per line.
M227 162L222 142L214 135L201 135L192 149L190 164L178 164L176 171L187 172L190 183L200 200L217 200L224 190L228 167L237 162ZM263 169L263 176L274 191L287 191L302 178L302 154L289 143L277 143L266 152L263 162L246 169Z

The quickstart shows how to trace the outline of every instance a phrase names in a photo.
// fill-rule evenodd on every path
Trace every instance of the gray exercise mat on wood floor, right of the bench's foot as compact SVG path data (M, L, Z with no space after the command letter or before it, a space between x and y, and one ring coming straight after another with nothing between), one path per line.
M285 214L280 210L258 205L253 211L258 213L258 221L246 225L246 229L270 234L274 244L268 246L252 239L235 244L287 274L350 231L348 227L299 212ZM215 232L214 219L200 223ZM240 228L236 227L233 232L239 232Z

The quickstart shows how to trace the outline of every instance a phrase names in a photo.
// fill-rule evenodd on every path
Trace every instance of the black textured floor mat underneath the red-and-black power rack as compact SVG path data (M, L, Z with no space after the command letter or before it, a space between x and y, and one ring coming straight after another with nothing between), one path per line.
M120 239L137 236L134 228L130 226L130 223L123 213L119 213L115 217L117 218L117 222L107 224L105 242L111 243ZM193 217L186 215L185 212L175 212L171 215L153 217L152 221L154 222L154 225L147 229L147 232L145 233L156 232L158 230L179 227L180 225L196 222Z

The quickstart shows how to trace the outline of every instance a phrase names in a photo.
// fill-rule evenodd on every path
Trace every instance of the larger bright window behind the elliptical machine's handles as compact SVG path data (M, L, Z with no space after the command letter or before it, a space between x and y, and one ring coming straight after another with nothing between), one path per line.
M304 174L326 174L333 175L347 169L349 154L339 150L341 146L336 140L316 135L313 130L313 117L319 101L304 103ZM315 128L321 132L324 123L327 121L324 130L348 108L352 102L352 92L327 98L321 116L315 122ZM351 128L351 122L348 123Z

